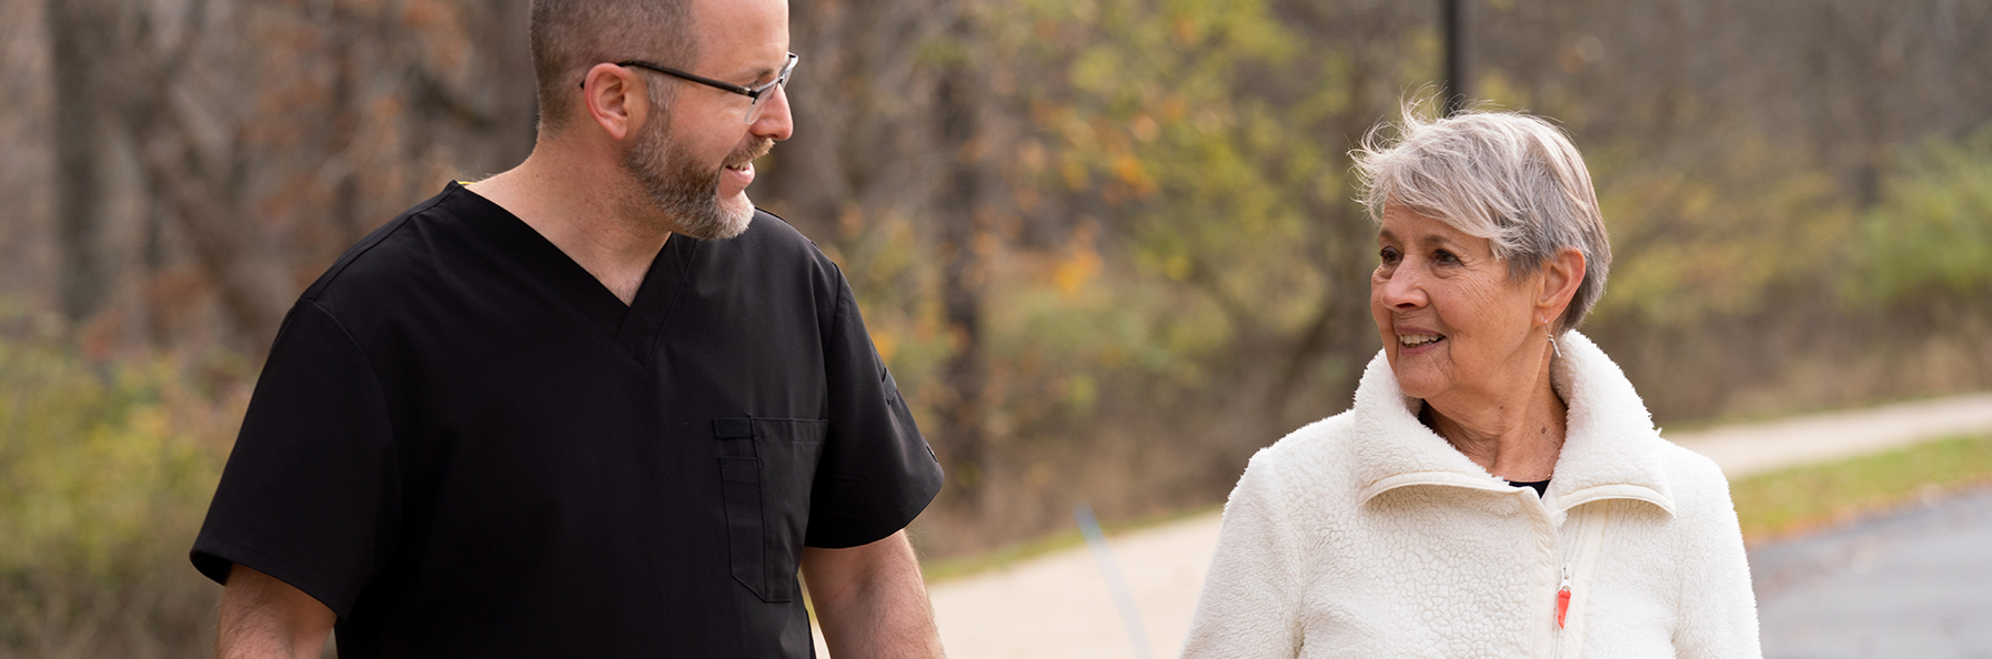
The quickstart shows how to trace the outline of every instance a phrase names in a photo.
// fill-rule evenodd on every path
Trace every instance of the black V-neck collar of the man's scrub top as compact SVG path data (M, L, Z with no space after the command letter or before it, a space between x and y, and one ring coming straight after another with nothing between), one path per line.
M456 181L450 181L446 191L462 195L474 209L472 215L490 217L490 221L466 221L472 229L498 243L502 253L526 277L550 287L556 297L582 317L588 317L637 364L649 364L651 346L671 309L677 305L677 297L685 289L685 279L691 275L691 259L699 251L699 239L673 233L651 259L649 271L643 273L643 283L637 285L635 299L623 305L596 275L588 273L560 245L548 241L524 219L512 215L512 211Z

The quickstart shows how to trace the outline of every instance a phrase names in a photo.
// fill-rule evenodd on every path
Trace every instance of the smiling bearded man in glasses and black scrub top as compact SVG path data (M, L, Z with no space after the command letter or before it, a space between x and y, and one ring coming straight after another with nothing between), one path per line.
M745 195L785 0L536 0L540 139L285 319L193 548L221 657L938 657L940 468L839 269Z

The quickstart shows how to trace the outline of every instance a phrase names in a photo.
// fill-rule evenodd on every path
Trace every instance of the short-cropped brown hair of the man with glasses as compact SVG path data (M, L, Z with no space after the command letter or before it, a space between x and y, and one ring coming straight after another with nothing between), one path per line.
M649 60L685 70L699 56L691 0L532 0L530 38L542 133L574 119L578 86L596 64Z

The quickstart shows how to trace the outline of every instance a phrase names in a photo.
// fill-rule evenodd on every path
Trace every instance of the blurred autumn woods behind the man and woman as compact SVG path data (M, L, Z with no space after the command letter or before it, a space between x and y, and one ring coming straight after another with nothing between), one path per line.
M197 657L185 561L289 303L534 137L526 0L0 0L0 657ZM928 559L1209 510L1378 348L1347 151L1440 2L805 0L753 197L948 468ZM1474 0L1612 231L1667 428L1992 388L1992 4Z

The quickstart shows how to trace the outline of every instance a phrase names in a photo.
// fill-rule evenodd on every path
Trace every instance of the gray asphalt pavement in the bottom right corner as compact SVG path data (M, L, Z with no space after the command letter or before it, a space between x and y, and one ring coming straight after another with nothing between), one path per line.
M1767 659L1992 659L1992 488L1751 549Z

